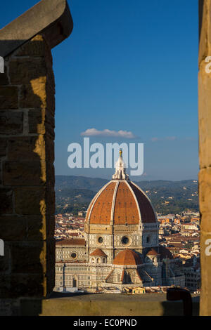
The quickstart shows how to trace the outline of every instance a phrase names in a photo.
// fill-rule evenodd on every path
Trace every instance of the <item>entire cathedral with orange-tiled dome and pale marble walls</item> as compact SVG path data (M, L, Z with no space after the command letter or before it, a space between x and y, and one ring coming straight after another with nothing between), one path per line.
M184 285L172 254L159 245L158 220L147 195L126 173L115 174L92 199L85 239L56 243L56 289Z

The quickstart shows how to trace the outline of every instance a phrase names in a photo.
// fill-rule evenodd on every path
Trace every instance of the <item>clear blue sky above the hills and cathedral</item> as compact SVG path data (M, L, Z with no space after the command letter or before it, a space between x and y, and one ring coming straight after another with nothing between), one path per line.
M1 27L36 4L11 0ZM144 143L144 176L198 175L198 1L71 0L71 36L53 48L56 77L56 174L110 178L113 169L68 168L68 145Z

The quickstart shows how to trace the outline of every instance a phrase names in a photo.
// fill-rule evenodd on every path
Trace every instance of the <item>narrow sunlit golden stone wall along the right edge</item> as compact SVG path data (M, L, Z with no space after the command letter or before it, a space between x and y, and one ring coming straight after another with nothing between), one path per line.
M200 172L200 315L211 315L211 1L199 0L198 127ZM208 62L207 62L208 60ZM210 66L211 67L211 66ZM210 248L209 248L210 246Z

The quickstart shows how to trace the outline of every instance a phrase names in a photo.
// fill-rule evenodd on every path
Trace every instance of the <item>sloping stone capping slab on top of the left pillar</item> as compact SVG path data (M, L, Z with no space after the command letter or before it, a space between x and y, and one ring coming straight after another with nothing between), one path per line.
M0 55L6 57L37 34L43 34L53 48L69 37L72 28L66 0L41 0L0 30Z

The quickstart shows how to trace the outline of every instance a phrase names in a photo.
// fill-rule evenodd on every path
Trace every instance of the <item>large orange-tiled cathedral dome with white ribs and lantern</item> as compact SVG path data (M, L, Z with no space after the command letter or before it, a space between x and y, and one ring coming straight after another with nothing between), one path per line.
M116 163L113 180L89 204L86 222L98 225L137 225L156 223L150 199L125 173L122 154Z

